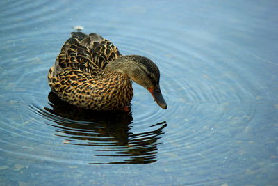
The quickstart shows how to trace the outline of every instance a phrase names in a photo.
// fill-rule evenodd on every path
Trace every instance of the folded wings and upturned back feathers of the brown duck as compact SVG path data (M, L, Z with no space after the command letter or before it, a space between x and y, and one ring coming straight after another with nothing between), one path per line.
M72 37L63 45L56 63L52 69L52 76L65 70L81 70L84 73L93 72L94 75L119 56L122 56L112 42L97 33L86 35L82 32L72 32Z

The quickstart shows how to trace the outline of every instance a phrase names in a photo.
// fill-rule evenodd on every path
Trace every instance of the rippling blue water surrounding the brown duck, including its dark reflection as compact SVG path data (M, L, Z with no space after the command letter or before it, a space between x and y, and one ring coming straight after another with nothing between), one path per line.
M277 1L1 1L1 185L278 185ZM76 111L47 72L84 26L161 70L163 110Z

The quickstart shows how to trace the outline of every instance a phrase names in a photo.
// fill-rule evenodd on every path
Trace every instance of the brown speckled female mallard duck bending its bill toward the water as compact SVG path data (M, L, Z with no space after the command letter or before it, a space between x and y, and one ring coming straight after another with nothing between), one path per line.
M48 82L59 98L93 110L129 110L131 80L147 88L163 109L159 70L144 56L122 56L112 42L96 33L72 33L50 68Z

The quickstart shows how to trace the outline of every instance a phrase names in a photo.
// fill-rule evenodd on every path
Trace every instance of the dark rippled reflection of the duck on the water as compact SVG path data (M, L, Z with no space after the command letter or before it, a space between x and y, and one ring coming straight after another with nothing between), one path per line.
M167 126L165 122L150 126L147 132L134 134L129 132L133 121L131 113L78 109L52 92L49 101L52 108L45 107L41 113L55 121L49 125L57 128L56 135L65 137L65 144L91 146L95 156L114 157L112 160L121 157L120 161L104 160L109 164L156 162L158 139Z

